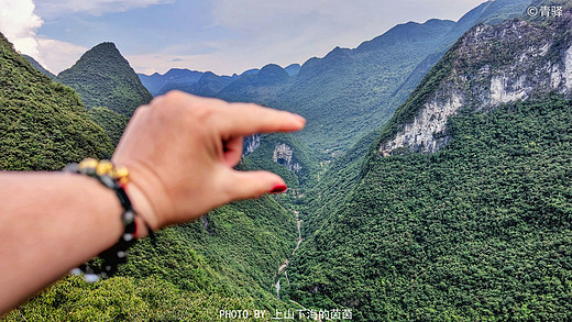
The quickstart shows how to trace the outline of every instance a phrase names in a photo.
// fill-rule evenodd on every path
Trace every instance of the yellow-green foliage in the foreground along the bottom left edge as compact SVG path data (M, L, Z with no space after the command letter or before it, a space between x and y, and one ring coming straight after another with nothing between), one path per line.
M96 284L66 277L3 321L232 321L219 310L252 310L250 298L180 291L160 278L113 277ZM268 320L266 320L268 321Z

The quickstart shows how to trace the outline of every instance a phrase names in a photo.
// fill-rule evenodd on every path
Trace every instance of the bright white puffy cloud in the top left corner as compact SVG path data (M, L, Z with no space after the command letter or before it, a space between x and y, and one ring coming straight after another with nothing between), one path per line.
M16 51L42 64L35 35L43 20L34 13L32 0L0 0L0 32L14 44Z

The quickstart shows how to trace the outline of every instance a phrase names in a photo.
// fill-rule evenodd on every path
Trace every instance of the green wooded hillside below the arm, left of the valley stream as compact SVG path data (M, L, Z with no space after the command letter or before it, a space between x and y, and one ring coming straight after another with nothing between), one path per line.
M271 289L295 240L294 214L273 198L233 203L139 242L118 277L96 284L66 277L4 318L213 321L219 310L270 314L288 308Z

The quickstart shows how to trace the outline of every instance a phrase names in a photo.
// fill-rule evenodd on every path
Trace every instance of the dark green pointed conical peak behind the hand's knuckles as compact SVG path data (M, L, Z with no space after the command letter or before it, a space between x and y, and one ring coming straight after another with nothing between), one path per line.
M153 98L112 43L101 43L56 78L74 88L88 108L106 107L131 116Z

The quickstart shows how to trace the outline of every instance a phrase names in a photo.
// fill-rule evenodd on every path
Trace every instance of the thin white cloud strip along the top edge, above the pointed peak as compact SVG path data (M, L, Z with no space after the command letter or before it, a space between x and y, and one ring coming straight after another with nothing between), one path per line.
M135 8L147 8L154 4L173 2L174 0L36 0L37 12L42 16L50 18L76 12L101 15L105 13L125 12Z

